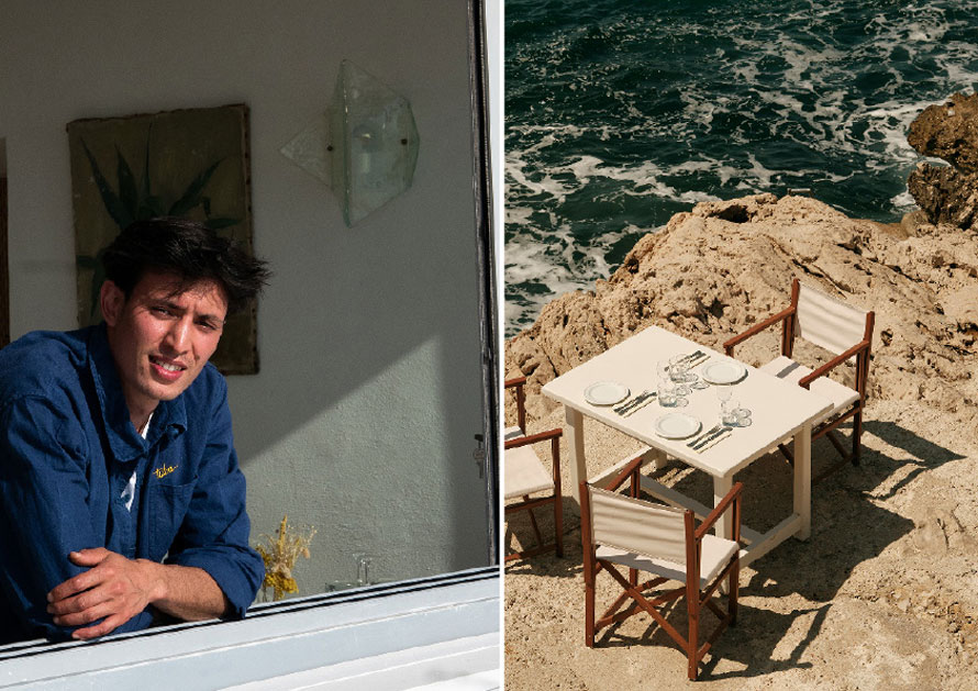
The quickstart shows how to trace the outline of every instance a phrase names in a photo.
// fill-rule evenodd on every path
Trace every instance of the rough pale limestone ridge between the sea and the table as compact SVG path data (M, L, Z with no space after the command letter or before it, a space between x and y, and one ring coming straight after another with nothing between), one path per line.
M923 399L978 433L967 367L978 233L853 220L807 197L757 194L676 214L593 292L557 298L510 339L507 375L529 377L527 409L540 417L555 408L538 394L555 376L649 324L720 349L786 307L793 277L876 312L870 402ZM771 332L736 355L759 364L776 347Z

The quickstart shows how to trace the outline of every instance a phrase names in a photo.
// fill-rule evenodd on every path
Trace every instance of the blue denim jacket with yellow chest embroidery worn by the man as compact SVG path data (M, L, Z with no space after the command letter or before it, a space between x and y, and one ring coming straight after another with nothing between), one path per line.
M212 365L159 403L144 439L104 325L34 332L0 350L0 643L70 634L46 594L85 570L68 553L88 547L199 567L241 617L264 578L248 535L227 386ZM115 632L152 620L147 609Z

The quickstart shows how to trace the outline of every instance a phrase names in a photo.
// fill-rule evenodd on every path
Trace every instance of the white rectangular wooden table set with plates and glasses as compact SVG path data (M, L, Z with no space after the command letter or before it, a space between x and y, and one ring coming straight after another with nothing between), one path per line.
M687 446L689 439L667 439L654 431L655 421L670 411L692 415L702 422L703 431L711 428L720 419L720 401L714 387L693 390L684 408L663 408L657 400L630 416L613 411L613 405L592 405L585 400L585 389L598 381L616 381L626 386L634 395L643 390L656 389L656 363L677 354L702 350L714 360L731 360L727 356L698 345L674 333L649 326L645 331L609 348L587 363L554 379L543 388L543 393L564 404L566 426L564 434L570 447L570 478L574 497L578 498L579 483L587 478L585 464L584 416L598 420L634 437L653 449L653 459L659 461L666 455L703 470L713 477L713 501L719 502L733 487L738 470L763 456L787 437L794 437L793 512L765 534L742 526L741 535L748 547L742 564L757 559L791 535L808 539L811 533L811 428L812 423L824 414L831 402L802 389L798 384L781 381L751 366L747 376L730 384L733 397L752 412L752 424L736 427L730 437L703 450L694 452ZM696 367L699 372L702 367ZM613 475L616 465L591 481L603 484ZM668 503L693 509L705 515L709 509L679 492L642 478L642 487ZM747 490L749 491L749 489ZM730 521L722 517L716 524L721 535L730 535Z

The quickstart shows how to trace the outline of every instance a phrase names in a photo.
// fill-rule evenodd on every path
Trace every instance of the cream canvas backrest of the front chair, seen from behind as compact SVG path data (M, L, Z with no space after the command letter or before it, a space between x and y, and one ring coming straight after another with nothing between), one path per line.
M686 564L685 512L589 487L592 544Z

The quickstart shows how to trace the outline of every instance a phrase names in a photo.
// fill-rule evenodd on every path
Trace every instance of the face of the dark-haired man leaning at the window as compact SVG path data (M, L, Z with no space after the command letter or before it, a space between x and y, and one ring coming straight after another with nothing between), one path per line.
M224 327L227 299L219 283L178 289L178 277L159 271L147 271L127 300L112 281L102 286L109 346L137 427L159 401L177 398L197 379Z

